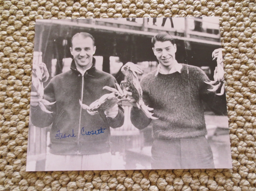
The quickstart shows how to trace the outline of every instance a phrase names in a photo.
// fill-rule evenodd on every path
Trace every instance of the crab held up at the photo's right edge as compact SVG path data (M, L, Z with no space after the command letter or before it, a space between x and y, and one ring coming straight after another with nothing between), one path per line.
M213 86L212 89L209 89L211 92L217 91L220 87L220 93L216 95L223 95L225 90L225 83L224 83L224 69L223 69L223 59L222 59L222 51L221 48L218 48L212 52L213 60L217 58L217 66L214 70L214 81L205 82L206 84L210 84Z

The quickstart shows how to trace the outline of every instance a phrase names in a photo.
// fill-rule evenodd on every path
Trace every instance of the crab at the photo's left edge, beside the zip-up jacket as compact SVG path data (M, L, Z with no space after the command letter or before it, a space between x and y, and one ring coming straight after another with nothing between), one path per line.
M52 105L55 102L49 102L46 99L43 99L44 96L44 85L43 82L46 82L49 78L49 72L46 68L45 63L38 62L35 58L32 70L32 92L37 92L37 96L39 97L38 105L42 109L42 111L46 113L53 113L46 109L45 105Z

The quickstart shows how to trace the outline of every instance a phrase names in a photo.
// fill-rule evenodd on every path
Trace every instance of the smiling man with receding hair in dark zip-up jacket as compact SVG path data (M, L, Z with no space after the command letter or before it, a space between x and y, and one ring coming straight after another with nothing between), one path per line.
M52 78L44 90L44 99L56 102L47 107L53 113L42 111L37 93L31 92L31 122L37 127L51 125L45 170L107 170L111 168L110 127L123 125L124 110L116 104L94 114L84 110L79 99L90 105L110 93L102 88L114 88L116 80L95 68L96 47L91 34L77 33L71 44L71 70Z

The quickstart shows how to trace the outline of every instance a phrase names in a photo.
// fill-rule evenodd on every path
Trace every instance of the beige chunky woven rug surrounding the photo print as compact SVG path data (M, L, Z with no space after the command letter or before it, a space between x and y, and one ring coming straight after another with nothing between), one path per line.
M255 191L256 3L1 1L0 190ZM26 172L36 19L220 17L233 169Z

